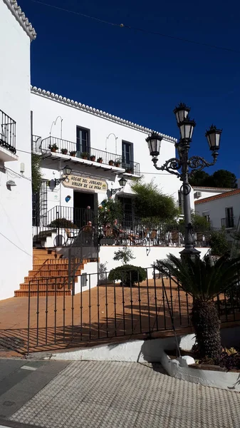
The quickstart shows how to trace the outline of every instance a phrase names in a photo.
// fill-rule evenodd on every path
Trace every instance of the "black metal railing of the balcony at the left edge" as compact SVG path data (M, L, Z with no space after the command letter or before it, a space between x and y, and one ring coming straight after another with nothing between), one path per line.
M16 122L0 110L0 146L16 153Z

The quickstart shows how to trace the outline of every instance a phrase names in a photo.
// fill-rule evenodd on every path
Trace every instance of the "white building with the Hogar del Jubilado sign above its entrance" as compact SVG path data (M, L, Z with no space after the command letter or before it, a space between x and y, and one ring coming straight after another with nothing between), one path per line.
M145 141L150 129L36 87L31 88L31 111L33 150L42 155L41 167L46 180L38 216L46 218L46 224L56 215L56 210L61 218L69 218L73 208L90 206L96 210L112 188L120 187L120 176L127 180L140 175L145 181L155 178L163 193L173 196L177 202L179 179L155 170L152 164ZM175 156L176 139L162 136L159 165ZM51 151L54 144L57 149ZM62 153L64 149L67 153ZM72 151L75 156L71 156ZM81 154L85 152L88 159ZM95 160L90 159L90 155L95 156ZM99 163L98 158L103 158L103 163ZM112 160L114 166L109 165ZM47 182L53 183L63 176L66 165L72 170L69 181L55 188L49 186ZM131 211L129 183L117 195L124 198L126 209ZM66 201L68 196L71 198ZM71 220L75 220L74 214Z

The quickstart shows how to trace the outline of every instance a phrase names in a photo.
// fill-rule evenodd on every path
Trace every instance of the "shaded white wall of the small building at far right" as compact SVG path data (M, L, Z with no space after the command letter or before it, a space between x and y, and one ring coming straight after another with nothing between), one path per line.
M209 211L212 227L221 228L221 218L226 218L225 208L230 207L234 209L235 224L237 225L240 215L240 194L197 203L195 204L195 211L199 215L202 215L204 211Z

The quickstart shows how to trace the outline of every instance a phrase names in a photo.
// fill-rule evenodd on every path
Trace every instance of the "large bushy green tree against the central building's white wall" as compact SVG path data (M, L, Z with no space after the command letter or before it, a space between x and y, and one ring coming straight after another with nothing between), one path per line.
M164 195L153 181L132 183L135 192L135 215L141 219L149 219L153 223L171 221L178 210L171 196Z

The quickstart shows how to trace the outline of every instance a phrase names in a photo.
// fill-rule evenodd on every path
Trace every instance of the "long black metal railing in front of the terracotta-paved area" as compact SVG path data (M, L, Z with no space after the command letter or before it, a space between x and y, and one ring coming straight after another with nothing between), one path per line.
M22 297L27 303L26 325L0 330L1 346L28 354L87 342L112 343L132 335L157 337L172 325L184 334L182 330L191 327L192 297L171 275L164 277L153 267L144 270L145 279L141 282L138 275L129 286L121 275L110 281L109 272L76 275L71 282L61 275L33 277ZM221 323L240 321L239 286L214 302Z

